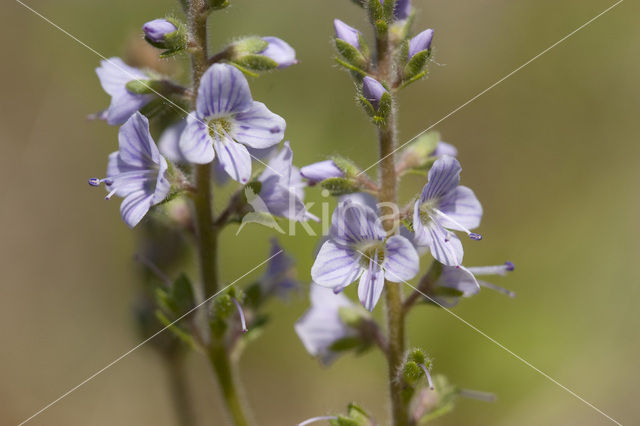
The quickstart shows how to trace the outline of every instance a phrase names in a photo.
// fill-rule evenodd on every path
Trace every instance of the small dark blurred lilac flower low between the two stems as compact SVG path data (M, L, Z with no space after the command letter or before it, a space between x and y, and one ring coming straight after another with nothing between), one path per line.
M260 278L262 294L273 294L281 299L286 299L289 293L300 287L295 278L295 263L276 238L271 238L270 256L271 260L267 264L267 270Z

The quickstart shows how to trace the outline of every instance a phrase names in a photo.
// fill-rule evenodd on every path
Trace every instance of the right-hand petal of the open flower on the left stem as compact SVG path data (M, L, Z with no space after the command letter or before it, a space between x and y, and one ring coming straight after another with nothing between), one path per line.
M229 134L240 143L262 149L280 142L286 127L282 117L269 111L262 102L253 102L233 118Z

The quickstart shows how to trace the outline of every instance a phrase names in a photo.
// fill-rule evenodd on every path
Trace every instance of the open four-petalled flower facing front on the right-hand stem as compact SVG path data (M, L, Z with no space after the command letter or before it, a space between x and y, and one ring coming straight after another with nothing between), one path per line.
M320 248L311 277L334 292L360 278L358 297L372 311L384 280L401 282L413 278L419 262L409 240L400 235L387 238L373 209L347 200L333 212L329 240Z

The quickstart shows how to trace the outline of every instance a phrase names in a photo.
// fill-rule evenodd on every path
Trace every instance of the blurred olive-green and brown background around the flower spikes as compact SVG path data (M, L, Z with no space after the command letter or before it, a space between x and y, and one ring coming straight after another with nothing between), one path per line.
M415 28L435 28L437 64L400 96L401 140L612 3L415 1ZM143 22L179 11L169 0L27 4L107 57L139 42ZM0 423L17 424L141 340L132 315L139 231L121 222L119 202L105 203L86 183L116 146L115 128L85 120L109 102L94 73L99 58L16 2L0 11ZM459 148L463 183L485 208L485 239L465 244L465 263L516 264L494 282L517 298L483 291L455 313L625 424L640 421L638 16L638 3L625 1L438 126ZM366 166L376 157L375 134L334 65L334 17L367 28L347 0L232 0L210 20L210 36L213 46L245 34L289 41L300 64L253 80L254 98L287 120L296 164L340 152ZM403 190L422 183L408 180ZM317 190L308 194L320 200ZM257 225L234 233L223 242L228 282L266 258L270 235ZM308 282L316 240L281 242ZM322 368L293 331L307 306L304 295L272 303L271 325L242 358L258 424L342 412L352 400L387 424L382 357L347 356ZM437 424L611 423L442 310L415 309L408 337L435 358L435 371L499 397L461 400ZM188 361L199 424L226 424L204 358ZM150 346L31 422L175 423L166 370Z

